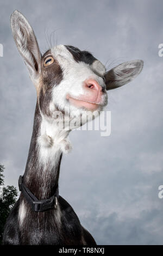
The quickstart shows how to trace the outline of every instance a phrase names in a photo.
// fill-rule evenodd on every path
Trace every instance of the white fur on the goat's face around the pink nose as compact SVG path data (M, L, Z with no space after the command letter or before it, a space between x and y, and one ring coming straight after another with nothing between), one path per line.
M79 115L82 114L83 109L70 104L66 99L66 95L69 94L78 97L86 94L87 91L84 89L83 84L87 79L96 80L103 88L105 88L105 83L102 78L105 68L99 61L95 61L93 66L84 62L77 63L73 59L70 51L63 45L52 48L51 52L63 70L63 77L60 84L53 88L52 106L57 105L58 109L62 109L68 114L76 112L76 115L79 117ZM96 72L94 72L93 69L96 69ZM105 93L99 104L100 110L102 110L102 107L106 105L106 103L107 95Z

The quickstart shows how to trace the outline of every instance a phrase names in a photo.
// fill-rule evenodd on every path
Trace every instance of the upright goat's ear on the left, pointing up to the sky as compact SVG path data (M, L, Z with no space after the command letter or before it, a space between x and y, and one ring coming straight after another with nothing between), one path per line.
M30 78L35 81L41 71L41 53L33 29L17 10L12 13L10 23L18 51L24 59Z

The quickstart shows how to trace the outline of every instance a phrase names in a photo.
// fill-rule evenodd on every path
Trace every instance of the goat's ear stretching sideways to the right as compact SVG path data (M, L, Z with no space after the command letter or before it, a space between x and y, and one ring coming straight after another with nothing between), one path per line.
M143 60L124 62L105 73L106 90L115 89L129 83L143 68Z

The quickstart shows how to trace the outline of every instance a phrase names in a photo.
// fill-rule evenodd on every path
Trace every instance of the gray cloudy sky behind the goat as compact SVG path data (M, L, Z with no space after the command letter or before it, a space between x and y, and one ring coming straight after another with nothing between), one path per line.
M26 166L36 103L35 88L18 53L10 14L20 10L33 26L41 51L70 44L91 51L108 68L143 59L142 73L108 93L111 135L73 131L73 150L62 159L60 194L105 245L161 245L163 2L0 0L0 162L5 184L17 186Z

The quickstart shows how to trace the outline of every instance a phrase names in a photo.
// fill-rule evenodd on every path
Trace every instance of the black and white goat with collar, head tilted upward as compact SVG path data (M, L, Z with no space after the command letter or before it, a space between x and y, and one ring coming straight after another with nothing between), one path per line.
M97 117L108 102L106 90L123 86L140 74L143 61L122 63L109 71L90 52L68 45L43 55L32 27L17 10L11 29L37 93L33 134L22 191L5 224L3 245L96 245L64 198L58 181L62 153L68 153L72 129L59 129L64 118L79 120L84 112ZM74 115L75 114L75 115Z

